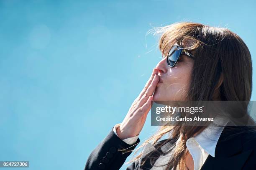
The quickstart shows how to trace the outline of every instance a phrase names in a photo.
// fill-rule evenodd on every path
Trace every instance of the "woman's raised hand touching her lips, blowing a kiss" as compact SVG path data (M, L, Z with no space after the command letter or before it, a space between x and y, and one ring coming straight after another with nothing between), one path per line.
M153 69L150 79L147 81L146 86L143 88L139 96L133 101L125 119L116 129L118 137L122 140L129 137L135 137L143 128L146 117L151 109L151 101L153 100L153 93L156 85L159 82L158 70Z

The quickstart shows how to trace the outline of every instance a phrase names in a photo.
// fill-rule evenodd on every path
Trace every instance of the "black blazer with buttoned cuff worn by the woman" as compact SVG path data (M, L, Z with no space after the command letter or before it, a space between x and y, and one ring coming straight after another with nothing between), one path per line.
M226 126L216 145L215 157L209 155L201 170L256 170L256 132L251 127ZM131 163L127 170L150 170L156 159L164 154L161 147L168 141L170 146L175 145L174 140L161 140L157 142L140 160ZM130 147L134 150L136 145L128 145L117 137L113 128L105 139L92 151L84 170L119 170L131 152L118 151ZM151 144L149 144L151 145ZM152 146L152 145L151 145ZM155 159L150 159L154 157ZM141 160L146 163L141 165Z

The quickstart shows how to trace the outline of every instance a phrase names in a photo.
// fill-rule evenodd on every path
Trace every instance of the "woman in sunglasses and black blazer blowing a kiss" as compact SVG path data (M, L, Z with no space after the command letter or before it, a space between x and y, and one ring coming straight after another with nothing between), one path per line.
M161 33L163 59L123 122L92 151L85 170L118 170L123 165L140 142L138 135L153 100L250 101L251 55L238 35L226 28L187 22L157 28L156 33ZM166 124L141 145L143 151L127 169L256 169L254 127L219 122L217 128ZM169 137L160 140L165 134Z

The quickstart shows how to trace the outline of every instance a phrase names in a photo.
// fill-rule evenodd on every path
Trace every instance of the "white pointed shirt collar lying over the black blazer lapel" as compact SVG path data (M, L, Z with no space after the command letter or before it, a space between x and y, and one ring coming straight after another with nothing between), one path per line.
M213 122L200 134L195 136L197 143L212 157L215 157L215 149L220 138L220 134L228 123L228 119L216 116Z

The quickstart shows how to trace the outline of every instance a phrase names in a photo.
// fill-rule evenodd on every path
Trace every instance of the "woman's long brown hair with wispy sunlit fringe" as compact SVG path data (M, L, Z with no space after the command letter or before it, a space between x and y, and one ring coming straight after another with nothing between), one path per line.
M166 56L174 43L190 44L185 48L195 53L187 100L214 100L216 87L220 100L249 101L252 92L251 54L243 40L227 28L217 28L200 23L181 22L154 28L155 34L161 35L159 49ZM222 80L220 86L220 77ZM184 169L184 155L187 152L186 141L194 134L201 132L205 126L162 126L156 134L146 140L153 145L172 130L170 138L181 137L174 150L167 169ZM136 152L135 152L136 153ZM132 161L140 159L141 154ZM143 162L142 162L143 164Z

